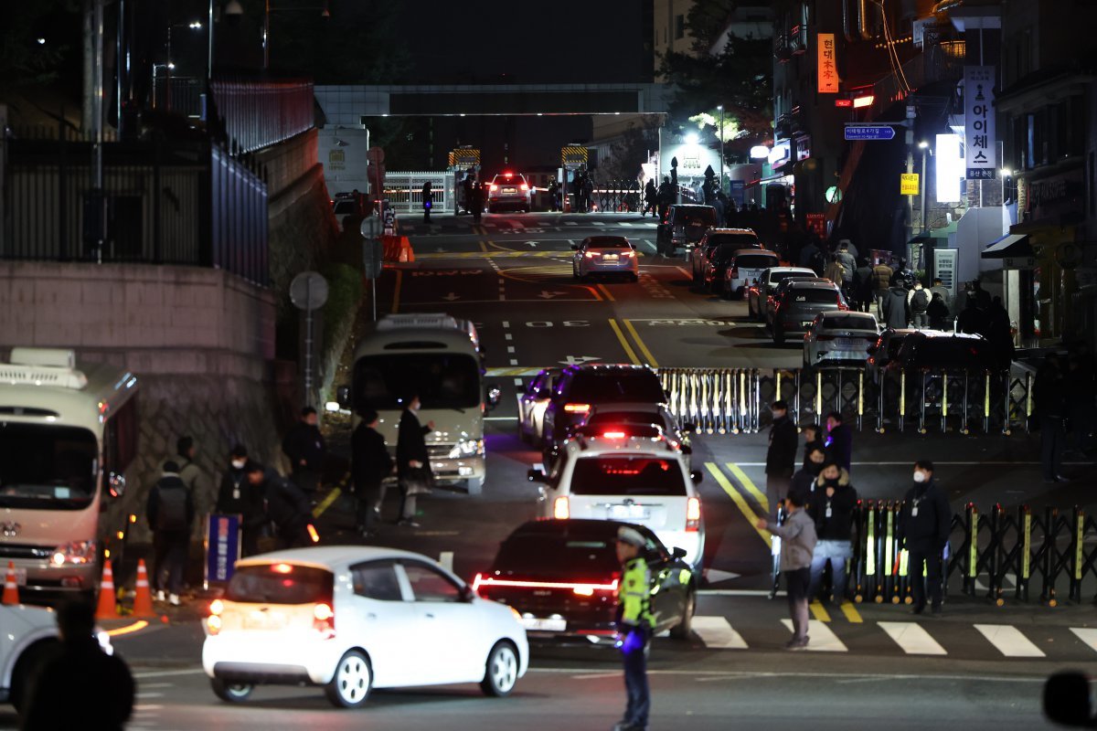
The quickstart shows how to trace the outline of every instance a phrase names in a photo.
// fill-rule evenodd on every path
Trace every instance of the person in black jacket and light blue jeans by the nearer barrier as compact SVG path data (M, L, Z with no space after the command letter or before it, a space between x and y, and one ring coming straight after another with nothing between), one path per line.
M850 530L853 527L853 509L857 490L849 483L849 473L835 461L827 461L819 470L816 490L811 493L807 513L815 521L818 542L812 553L812 583L808 597L818 594L823 572L830 564L835 604L846 598L846 562L853 556Z

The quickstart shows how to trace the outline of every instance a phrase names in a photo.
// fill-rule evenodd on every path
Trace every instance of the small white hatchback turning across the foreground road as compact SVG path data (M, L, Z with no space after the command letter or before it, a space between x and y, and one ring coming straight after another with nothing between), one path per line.
M479 683L506 696L529 666L512 609L425 556L387 548L238 561L204 626L202 666L227 701L264 683L323 686L342 708L361 706L373 688Z

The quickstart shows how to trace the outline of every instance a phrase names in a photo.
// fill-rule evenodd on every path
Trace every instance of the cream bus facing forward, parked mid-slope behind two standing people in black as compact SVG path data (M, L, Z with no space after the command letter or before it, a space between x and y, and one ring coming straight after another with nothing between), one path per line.
M479 336L472 322L441 313L385 316L359 341L351 378L349 391L340 389L340 403L355 414L376 410L378 431L393 450L402 399L418 393L419 421L434 422L427 435L434 478L479 494L484 413L499 393L485 393Z

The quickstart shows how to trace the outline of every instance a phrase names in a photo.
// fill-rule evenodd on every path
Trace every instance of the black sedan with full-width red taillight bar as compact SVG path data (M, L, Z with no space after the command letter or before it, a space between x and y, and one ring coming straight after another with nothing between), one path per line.
M618 521L530 521L499 546L491 568L473 580L484 598L521 615L531 640L592 638L612 642L621 563L617 534L629 526L647 540L643 557L652 574L655 631L687 639L697 606L697 580L651 529Z

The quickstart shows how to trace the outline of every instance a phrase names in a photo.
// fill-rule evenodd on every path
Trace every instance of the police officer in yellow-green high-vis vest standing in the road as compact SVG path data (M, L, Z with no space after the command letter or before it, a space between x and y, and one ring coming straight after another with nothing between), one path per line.
M624 687L629 696L624 719L614 731L640 731L647 728L652 708L647 689L647 643L652 639L652 573L641 556L644 536L634 528L618 530L617 553L623 571L618 586L618 646L624 663Z

